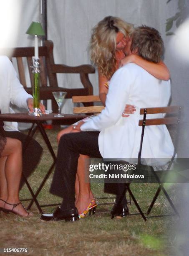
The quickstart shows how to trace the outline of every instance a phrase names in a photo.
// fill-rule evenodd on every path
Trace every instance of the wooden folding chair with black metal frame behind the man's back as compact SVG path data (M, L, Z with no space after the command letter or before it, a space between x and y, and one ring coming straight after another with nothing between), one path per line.
M171 116L164 117L164 118L154 118L154 119L146 119L147 114L160 114L160 113L166 113ZM169 201L171 207L173 208L176 215L179 216L179 213L176 210L176 207L174 206L171 198L169 197L168 193L166 192L166 189L164 188L164 183L166 182L166 178L169 176L169 173L171 172L171 166L173 165L173 161L176 156L176 148L178 144L178 136L179 136L179 123L180 123L180 115L181 115L181 107L179 106L170 106L170 107L161 107L161 108L142 108L140 110L140 114L143 114L143 120L139 120L139 126L142 126L142 133L141 133L141 144L139 149L139 155L138 155L138 161L139 164L141 164L141 151L142 151L142 145L143 145L143 138L144 138L144 129L145 126L148 125L176 125L176 134L174 136L174 152L173 156L171 157L169 164L167 166L167 169L165 171L159 171L164 172L163 177L160 179L157 175L157 170L155 171L153 166L151 166L151 172L154 174L154 177L156 178L157 182L159 183L159 187L154 195L154 198L146 212L147 215L151 212L152 207L154 206L154 203L159 196L159 193L161 190L164 192L164 195L166 196L167 200Z

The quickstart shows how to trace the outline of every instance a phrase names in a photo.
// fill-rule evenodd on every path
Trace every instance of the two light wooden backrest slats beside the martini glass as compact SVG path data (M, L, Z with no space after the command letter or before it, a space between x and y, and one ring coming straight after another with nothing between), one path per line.
M101 102L98 95L88 95L88 96L73 96L72 97L73 103L83 103L82 107L74 107L73 113L79 114L79 113L101 113L101 111L104 109L104 106L86 106L86 102Z

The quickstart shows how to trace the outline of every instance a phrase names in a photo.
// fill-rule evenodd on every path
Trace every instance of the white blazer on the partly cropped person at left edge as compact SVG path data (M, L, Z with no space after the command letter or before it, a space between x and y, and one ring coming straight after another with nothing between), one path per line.
M32 98L20 84L13 64L7 56L0 56L0 110L14 113L10 103L20 108L28 108L27 99ZM5 131L18 131L18 123L4 122Z

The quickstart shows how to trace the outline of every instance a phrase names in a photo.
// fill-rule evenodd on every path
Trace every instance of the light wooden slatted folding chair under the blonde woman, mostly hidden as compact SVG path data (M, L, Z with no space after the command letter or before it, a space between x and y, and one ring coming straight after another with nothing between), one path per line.
M104 109L104 106L99 105L101 102L98 95L86 95L86 96L73 96L73 103L77 104L77 107L73 107L74 114L98 114ZM83 106L80 106L80 103L83 103ZM98 105L94 106L94 103ZM96 197L98 200L107 200L107 199L115 199L116 197ZM131 204L131 197L127 203ZM99 203L98 205L111 205L113 203Z

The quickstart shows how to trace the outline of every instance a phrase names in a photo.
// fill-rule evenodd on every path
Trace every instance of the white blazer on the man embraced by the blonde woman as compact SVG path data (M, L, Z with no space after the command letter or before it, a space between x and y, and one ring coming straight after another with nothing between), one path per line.
M143 117L140 108L167 106L169 97L170 81L156 79L136 64L127 64L111 79L105 109L81 125L81 131L101 131L98 145L103 158L136 159L142 129L138 123ZM136 106L136 112L127 118L122 117L126 103ZM173 150L166 125L146 126L141 158L170 158Z

